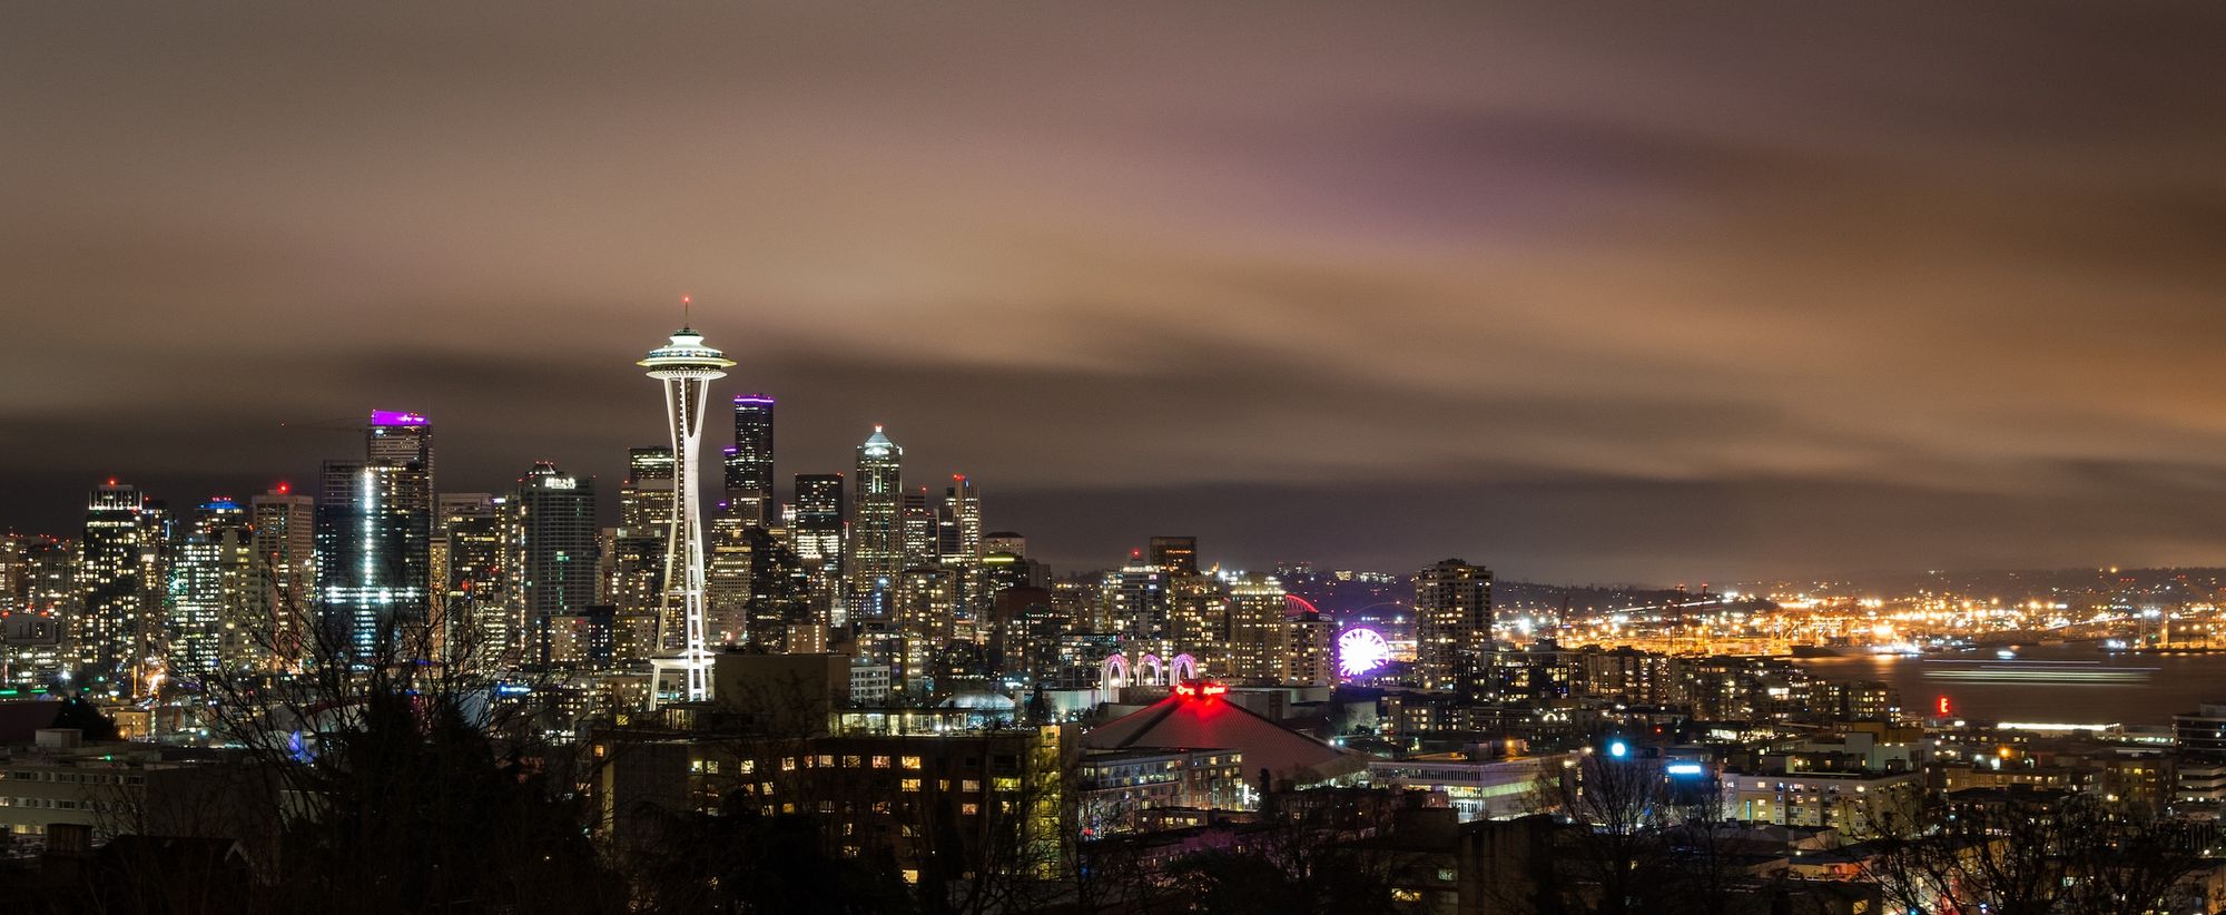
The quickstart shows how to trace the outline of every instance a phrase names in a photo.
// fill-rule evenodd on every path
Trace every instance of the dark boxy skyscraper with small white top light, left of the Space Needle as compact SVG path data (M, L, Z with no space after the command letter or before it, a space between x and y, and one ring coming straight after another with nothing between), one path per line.
M550 663L550 634L594 599L594 479L534 463L510 494L512 601L525 632L525 661Z

